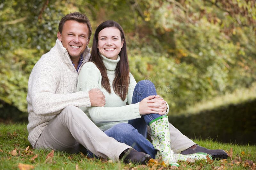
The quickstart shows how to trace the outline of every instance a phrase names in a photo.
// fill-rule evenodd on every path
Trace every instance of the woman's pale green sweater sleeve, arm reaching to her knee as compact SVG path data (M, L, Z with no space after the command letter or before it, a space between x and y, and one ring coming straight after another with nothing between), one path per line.
M99 88L104 91L101 87L100 70L94 63L87 62L78 75L77 91L89 91L93 88ZM81 109L87 110L92 121L95 123L127 121L141 117L139 103L120 107L90 107Z

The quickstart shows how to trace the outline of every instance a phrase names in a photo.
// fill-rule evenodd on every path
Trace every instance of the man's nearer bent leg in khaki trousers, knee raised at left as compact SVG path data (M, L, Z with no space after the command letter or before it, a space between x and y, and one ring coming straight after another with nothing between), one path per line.
M108 137L76 106L67 106L54 117L36 142L37 149L77 153L86 148L96 156L112 160L118 160L130 147Z

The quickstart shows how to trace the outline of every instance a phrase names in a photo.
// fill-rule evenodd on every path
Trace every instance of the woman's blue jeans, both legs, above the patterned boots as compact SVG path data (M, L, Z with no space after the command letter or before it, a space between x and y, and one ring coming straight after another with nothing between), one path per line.
M151 81L139 81L133 91L132 103L138 103L145 97L156 95L156 88ZM157 150L151 142L146 139L148 123L161 115L148 114L141 118L129 120L127 123L119 123L104 131L109 137L115 138L118 142L125 143L139 152L149 154L155 159ZM91 153L89 153L91 155Z

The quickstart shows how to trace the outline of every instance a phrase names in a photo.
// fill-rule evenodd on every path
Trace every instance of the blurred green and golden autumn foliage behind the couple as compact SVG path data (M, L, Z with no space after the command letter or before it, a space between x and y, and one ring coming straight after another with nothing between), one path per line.
M243 112L248 112L244 122L252 124L245 127L251 132L246 136L256 136L255 104L244 104L256 103L253 0L1 0L0 117L27 121L29 74L41 55L54 46L60 19L74 11L86 13L93 30L105 20L122 25L130 71L137 81L149 79L156 84L169 103L170 118L185 120L194 109L196 124L204 121L199 113L221 112L235 101L242 106L239 112L222 109L213 120L222 114L238 114L234 121L239 122ZM189 121L176 126L185 127ZM255 138L243 142L253 140L256 143Z

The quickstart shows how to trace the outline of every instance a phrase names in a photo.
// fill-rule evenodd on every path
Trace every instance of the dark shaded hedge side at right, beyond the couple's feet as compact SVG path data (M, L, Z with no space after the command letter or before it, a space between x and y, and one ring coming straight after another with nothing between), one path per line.
M256 99L202 110L187 116L169 116L169 121L189 138L211 136L221 142L256 144Z

